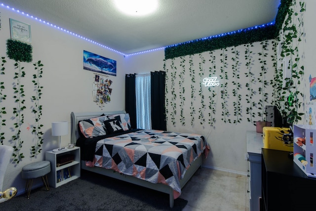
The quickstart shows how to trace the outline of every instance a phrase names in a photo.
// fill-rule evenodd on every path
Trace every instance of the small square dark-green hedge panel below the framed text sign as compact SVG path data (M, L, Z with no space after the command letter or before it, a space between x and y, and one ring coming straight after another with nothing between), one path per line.
M32 45L12 39L6 41L6 55L19 62L32 61Z

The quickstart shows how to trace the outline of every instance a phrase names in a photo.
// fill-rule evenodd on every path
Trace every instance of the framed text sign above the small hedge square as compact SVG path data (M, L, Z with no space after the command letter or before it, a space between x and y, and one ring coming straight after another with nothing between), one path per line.
M31 43L31 25L10 18L11 39Z

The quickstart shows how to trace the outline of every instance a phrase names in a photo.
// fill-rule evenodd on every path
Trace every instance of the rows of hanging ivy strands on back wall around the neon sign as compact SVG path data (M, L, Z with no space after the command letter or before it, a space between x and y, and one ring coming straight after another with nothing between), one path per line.
M275 42L165 60L166 113L172 125L215 127L219 121L236 125L263 120L265 105L273 102L268 93L273 92L274 63L267 60L274 56ZM217 77L219 85L205 86L207 77Z

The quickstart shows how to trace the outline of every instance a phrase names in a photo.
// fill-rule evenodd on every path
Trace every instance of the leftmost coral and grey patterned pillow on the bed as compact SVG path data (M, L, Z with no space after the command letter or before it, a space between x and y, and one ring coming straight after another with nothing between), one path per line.
M106 116L94 117L79 122L79 128L81 133L86 138L93 138L100 135L106 135L107 132L104 129L104 120Z

